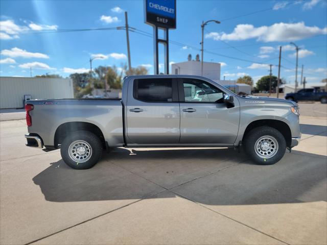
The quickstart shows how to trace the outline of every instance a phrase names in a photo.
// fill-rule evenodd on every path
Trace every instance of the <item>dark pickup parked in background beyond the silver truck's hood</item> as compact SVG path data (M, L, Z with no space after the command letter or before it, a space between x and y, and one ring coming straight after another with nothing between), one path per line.
M290 101L320 101L321 104L327 103L327 92L316 88L300 89L296 93L287 93L286 100Z

